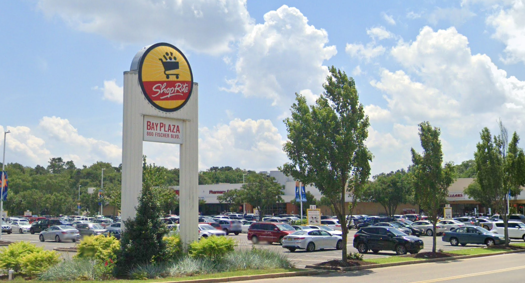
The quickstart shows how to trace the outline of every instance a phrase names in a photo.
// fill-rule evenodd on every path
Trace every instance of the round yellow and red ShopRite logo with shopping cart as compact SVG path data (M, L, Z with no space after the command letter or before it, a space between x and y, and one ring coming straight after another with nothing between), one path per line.
M139 84L144 97L164 112L184 107L193 89L193 74L186 56L175 46L150 46L139 62Z

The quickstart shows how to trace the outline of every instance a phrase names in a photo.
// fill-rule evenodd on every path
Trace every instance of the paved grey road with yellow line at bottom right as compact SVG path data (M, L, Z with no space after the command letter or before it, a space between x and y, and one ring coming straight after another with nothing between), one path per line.
M470 258L441 263L334 272L309 277L251 280L250 283L523 283L525 253Z

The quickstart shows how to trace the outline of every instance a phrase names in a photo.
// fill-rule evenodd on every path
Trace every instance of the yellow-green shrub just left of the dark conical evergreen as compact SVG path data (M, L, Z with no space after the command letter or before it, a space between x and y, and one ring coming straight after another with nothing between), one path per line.
M78 245L75 258L90 258L105 264L109 260L116 261L119 250L120 242L113 236L87 236Z

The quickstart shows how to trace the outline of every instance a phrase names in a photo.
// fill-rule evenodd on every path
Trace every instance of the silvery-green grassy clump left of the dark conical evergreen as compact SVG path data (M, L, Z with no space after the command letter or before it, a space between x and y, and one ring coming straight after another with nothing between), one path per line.
M99 280L101 278L96 266L95 260L88 258L65 260L50 267L40 275L39 279L46 281Z

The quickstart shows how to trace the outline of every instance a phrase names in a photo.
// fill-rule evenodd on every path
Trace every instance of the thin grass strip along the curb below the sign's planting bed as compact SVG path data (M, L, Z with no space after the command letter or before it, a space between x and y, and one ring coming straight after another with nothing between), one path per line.
M299 268L275 268L275 269L250 269L250 270L237 270L230 272L219 272L215 274L206 274L206 275L197 275L197 276L186 276L186 277L169 277L169 278L160 278L160 279L149 279L149 280L111 280L106 282L111 283L147 283L147 282L163 282L163 281L183 281L183 280L194 280L194 279L208 279L208 278L224 278L224 277L233 277L233 276L246 276L246 275L260 275L260 274L272 274L272 273L281 273L281 272L294 272L294 271L304 271L306 269ZM36 281L36 280L34 280ZM11 282L27 282L22 277L15 278ZM40 281L46 282L46 281ZM100 283L101 281L68 281L68 283Z

